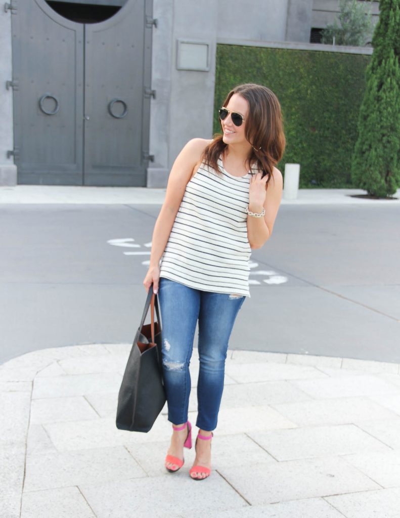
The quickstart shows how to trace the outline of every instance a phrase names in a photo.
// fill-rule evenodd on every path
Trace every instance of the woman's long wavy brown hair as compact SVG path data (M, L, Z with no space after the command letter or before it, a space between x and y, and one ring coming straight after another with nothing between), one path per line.
M227 106L233 94L241 95L249 103L245 136L252 149L248 162L256 164L262 171L262 177L268 175L266 182L268 185L273 168L281 160L286 145L279 100L269 88L261 84L245 83L239 84L231 90L222 106ZM218 158L227 146L222 138L223 135L215 134L202 156L205 163L219 173L222 171L218 166Z

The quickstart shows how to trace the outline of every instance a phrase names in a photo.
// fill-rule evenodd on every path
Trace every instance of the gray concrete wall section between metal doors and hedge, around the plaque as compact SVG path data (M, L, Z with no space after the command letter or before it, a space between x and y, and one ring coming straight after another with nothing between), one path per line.
M153 0L152 88L148 187L165 186L170 168L185 143L211 138L218 5L215 0ZM209 44L209 71L178 70L177 40Z

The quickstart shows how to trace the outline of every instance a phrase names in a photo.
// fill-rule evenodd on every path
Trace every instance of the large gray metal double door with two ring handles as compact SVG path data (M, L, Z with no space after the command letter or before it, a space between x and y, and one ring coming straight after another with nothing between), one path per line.
M146 12L150 11L150 12ZM18 183L146 185L151 2L77 23L45 0L13 10Z

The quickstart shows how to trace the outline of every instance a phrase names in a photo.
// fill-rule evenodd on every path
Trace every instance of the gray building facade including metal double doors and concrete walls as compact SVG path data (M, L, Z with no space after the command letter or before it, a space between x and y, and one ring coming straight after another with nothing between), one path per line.
M0 185L165 186L185 142L212 136L217 44L370 53L318 44L338 5L11 0L0 12ZM373 25L378 7L365 2Z

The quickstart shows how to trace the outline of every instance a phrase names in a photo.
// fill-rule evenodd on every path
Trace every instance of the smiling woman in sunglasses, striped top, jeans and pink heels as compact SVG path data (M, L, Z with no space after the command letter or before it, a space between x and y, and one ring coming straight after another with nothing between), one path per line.
M272 234L282 196L275 165L285 137L275 94L261 85L239 85L219 114L223 135L190 140L170 171L143 282L147 292L152 283L159 292L168 421L173 423L168 471L178 471L183 447L192 447L189 363L198 320L199 433L189 471L195 480L210 474L228 339L250 297L251 249L261 248Z

